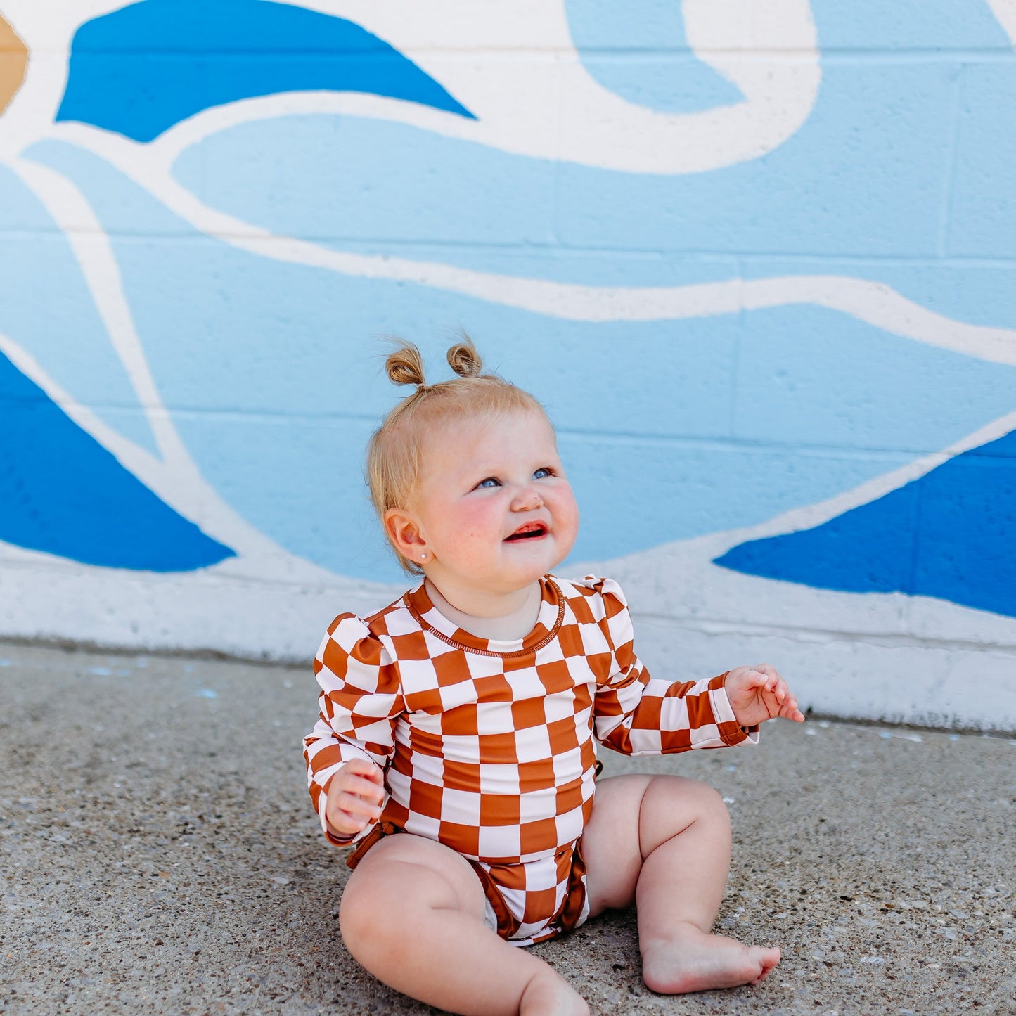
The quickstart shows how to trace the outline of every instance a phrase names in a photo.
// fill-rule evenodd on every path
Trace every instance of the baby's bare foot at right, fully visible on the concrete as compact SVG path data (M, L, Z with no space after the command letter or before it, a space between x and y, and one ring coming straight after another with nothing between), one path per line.
M746 946L688 924L642 947L642 979L660 995L757 985L779 962L778 949Z

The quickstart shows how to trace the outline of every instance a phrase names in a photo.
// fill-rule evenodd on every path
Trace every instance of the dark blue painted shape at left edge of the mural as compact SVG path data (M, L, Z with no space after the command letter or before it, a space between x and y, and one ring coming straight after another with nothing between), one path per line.
M156 572L236 556L155 497L2 354L0 539Z

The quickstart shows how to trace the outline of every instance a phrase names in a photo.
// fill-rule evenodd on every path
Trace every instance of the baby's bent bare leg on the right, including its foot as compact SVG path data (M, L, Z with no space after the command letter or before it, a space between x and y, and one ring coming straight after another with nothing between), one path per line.
M731 863L731 823L712 787L616 776L596 787L582 837L591 912L638 909L642 979L674 995L761 980L778 949L710 934Z

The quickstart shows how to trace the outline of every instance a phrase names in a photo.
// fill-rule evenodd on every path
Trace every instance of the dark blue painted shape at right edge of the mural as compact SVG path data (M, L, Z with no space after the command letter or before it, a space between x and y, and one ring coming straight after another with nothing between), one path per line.
M1016 617L1016 431L814 529L741 544L715 564Z

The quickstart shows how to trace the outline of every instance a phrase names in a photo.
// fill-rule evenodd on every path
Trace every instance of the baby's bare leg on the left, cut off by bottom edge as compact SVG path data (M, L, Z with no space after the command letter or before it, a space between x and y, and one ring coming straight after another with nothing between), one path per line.
M480 880L453 850L400 833L382 839L350 876L342 939L379 980L463 1016L588 1016L547 963L484 922Z

